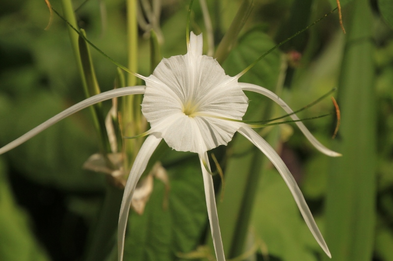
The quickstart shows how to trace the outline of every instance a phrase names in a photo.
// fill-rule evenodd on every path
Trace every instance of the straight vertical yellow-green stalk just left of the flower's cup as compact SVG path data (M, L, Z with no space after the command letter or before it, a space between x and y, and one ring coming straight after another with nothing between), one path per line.
M137 23L137 0L127 0L127 57L128 69L138 71L138 23ZM127 75L127 86L137 85L138 79L132 74ZM122 129L124 136L135 136L139 134L140 129L140 110L136 110L140 95L125 96L122 98ZM124 167L131 169L135 157L139 151L139 141L124 141Z

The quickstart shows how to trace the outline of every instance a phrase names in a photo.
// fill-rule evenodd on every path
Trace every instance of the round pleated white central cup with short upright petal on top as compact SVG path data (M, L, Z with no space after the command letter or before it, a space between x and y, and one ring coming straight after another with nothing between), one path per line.
M226 145L238 128L230 121L197 116L199 111L242 119L248 107L237 78L201 54L202 35L191 33L189 52L163 59L146 80L142 113L178 151L202 153Z

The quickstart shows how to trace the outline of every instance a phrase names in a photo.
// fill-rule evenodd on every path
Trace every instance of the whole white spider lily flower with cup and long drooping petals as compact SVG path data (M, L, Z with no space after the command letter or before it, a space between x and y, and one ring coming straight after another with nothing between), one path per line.
M251 129L250 125L239 122L248 107L248 99L243 93L245 90L268 96L289 114L293 111L269 90L253 84L238 83L243 73L230 77L215 59L202 55L202 35L196 36L191 32L187 49L185 55L163 59L149 77L137 74L145 80L146 86L120 88L87 98L2 147L0 154L27 141L60 119L94 103L118 96L144 94L142 113L150 123L151 129L145 133L148 137L140 148L124 189L117 238L119 261L123 259L124 237L133 193L151 155L162 139L175 150L198 153L216 257L218 261L225 261L207 151L219 145L226 145L236 131L257 146L276 166L312 235L331 257L302 192L280 156ZM294 114L291 118L299 119ZM332 157L341 155L318 142L301 121L296 124L322 153Z

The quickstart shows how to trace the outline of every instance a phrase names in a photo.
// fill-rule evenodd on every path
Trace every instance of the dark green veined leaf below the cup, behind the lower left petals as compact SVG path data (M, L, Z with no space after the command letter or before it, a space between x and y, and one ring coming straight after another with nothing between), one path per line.
M197 248L207 224L207 210L200 164L196 158L167 169L168 209L163 208L165 186L155 180L142 215L130 214L124 260L179 260L176 253Z

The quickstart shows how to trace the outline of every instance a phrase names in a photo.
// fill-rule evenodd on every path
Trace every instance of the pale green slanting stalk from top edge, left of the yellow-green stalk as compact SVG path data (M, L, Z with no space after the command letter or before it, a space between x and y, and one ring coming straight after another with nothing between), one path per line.
M70 0L61 0L61 4L62 4L62 9L63 9L63 14L64 14L64 18L75 28L78 28L77 22L76 22L76 18L75 18L75 14L74 14L74 9L72 6L72 2ZM78 33L76 33L71 27L67 26L67 30L68 30L68 34L70 36L70 40L71 40L71 45L72 48L74 50L74 55L75 55L75 60L77 63L77 67L78 67L78 71L80 72L81 75L81 80L82 80L82 85L84 88L84 93L87 94L89 93L88 88L87 88L87 84L86 84L86 78L84 75L84 70L83 70L83 66L82 66L82 61L81 61L81 56L80 56L80 52L79 52L79 44L78 44ZM102 133L101 133L101 128L100 128L100 124L98 121L98 117L96 114L96 111L94 110L93 107L90 107L90 112L91 115L93 117L93 122L94 122L94 126L98 132L98 134L103 137Z

